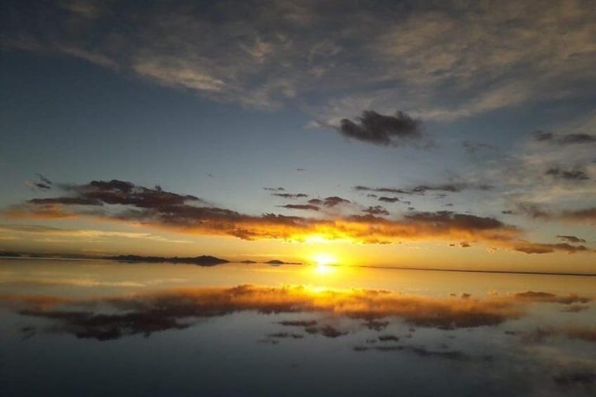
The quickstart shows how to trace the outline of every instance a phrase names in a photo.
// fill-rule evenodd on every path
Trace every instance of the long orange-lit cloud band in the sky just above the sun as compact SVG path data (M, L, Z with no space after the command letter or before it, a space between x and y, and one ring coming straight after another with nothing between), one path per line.
M180 195L160 186L145 188L118 180L92 181L82 185L59 184L64 196L32 199L8 207L2 215L12 219L64 219L89 217L106 221L140 224L157 230L191 235L225 235L244 240L276 239L305 241L311 235L326 240L364 244L403 241L479 241L519 252L589 252L584 246L540 244L520 240L523 230L488 216L453 211L410 212L386 219L382 207L370 207L371 214L327 214L323 218L281 214L242 214L233 209L206 206L194 195ZM86 200L89 200L88 204ZM313 199L296 209L334 208L352 204L339 196ZM313 207L304 207L311 205ZM351 208L350 206L349 208Z

